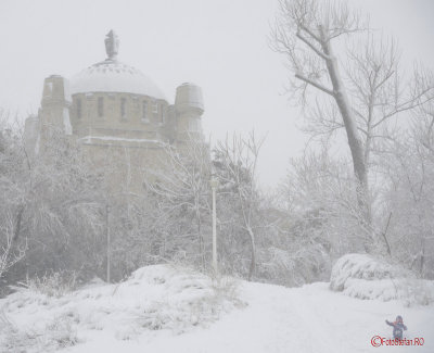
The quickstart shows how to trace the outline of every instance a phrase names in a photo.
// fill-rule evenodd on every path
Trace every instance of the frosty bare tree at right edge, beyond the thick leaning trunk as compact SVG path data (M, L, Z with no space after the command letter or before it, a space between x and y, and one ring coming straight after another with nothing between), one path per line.
M382 159L392 255L426 278L434 276L433 109L433 102L419 109L410 129L390 141Z

